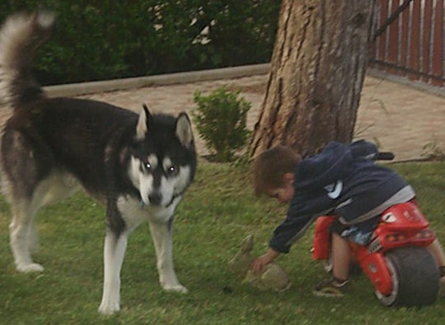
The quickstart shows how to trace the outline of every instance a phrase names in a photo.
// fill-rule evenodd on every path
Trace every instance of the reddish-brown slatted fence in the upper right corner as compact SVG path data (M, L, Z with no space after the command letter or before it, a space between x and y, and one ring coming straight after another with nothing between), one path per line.
M370 66L442 87L444 0L378 0Z

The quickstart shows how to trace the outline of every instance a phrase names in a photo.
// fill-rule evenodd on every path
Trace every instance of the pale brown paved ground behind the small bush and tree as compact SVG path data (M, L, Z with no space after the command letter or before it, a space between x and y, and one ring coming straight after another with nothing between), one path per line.
M125 91L95 93L83 98L104 100L139 112L142 103L153 111L177 114L190 112L194 107L195 91L209 93L218 86L241 90L240 96L252 103L248 127L257 121L267 75L255 75L231 80L195 82L167 86L147 86ZM356 138L378 142L384 151L393 151L397 160L422 158L432 149L445 152L445 98L410 86L365 77L361 105L356 121ZM197 136L197 133L195 132ZM424 149L430 146L430 149ZM197 139L199 154L206 154L201 139Z

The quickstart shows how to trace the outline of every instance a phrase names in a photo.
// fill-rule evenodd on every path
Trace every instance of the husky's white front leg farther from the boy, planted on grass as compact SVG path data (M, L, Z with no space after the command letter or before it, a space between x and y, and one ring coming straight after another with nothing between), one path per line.
M120 309L121 268L127 247L128 233L116 233L107 229L104 245L103 296L99 312L105 315Z

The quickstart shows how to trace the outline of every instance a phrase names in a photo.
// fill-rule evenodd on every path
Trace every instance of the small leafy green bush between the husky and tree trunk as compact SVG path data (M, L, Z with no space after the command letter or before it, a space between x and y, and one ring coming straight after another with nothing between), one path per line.
M239 91L227 91L224 86L209 96L195 92L197 107L193 121L208 149L215 153L216 160L232 160L236 151L246 146L250 131L246 127L250 102L238 98Z

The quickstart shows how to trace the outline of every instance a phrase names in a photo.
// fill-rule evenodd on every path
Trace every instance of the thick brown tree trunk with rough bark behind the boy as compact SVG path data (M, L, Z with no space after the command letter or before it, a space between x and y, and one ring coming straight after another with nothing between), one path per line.
M276 144L306 156L352 140L374 10L375 0L282 0L250 156Z

